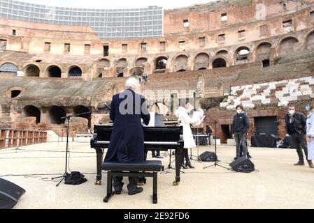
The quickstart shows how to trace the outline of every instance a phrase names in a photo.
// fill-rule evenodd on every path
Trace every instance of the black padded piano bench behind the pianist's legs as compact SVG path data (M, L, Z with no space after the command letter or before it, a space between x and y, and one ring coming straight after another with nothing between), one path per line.
M113 192L113 176L152 177L152 203L157 203L157 171L164 169L160 160L145 160L143 162L103 162L101 169L107 172L107 194L104 202L108 202ZM131 171L143 171L133 173ZM146 172L149 171L149 172Z

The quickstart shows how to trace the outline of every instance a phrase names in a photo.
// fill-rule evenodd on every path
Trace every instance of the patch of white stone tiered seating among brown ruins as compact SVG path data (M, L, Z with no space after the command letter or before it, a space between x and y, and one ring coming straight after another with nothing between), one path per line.
M313 88L314 77L231 86L227 102L221 102L220 107L235 109L236 105L240 104L248 109L267 104L277 104L278 107L283 107L292 101L314 98Z

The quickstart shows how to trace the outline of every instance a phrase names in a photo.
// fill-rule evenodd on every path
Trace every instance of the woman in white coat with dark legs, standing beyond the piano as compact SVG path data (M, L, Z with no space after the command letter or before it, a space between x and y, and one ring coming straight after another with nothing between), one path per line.
M178 121L180 121L180 125L183 126L183 141L184 141L184 149L183 155L181 158L181 167L183 169L187 169L188 167L194 168L190 162L189 154L187 149L196 147L195 141L193 138L192 130L190 124L196 124L199 122L201 117L191 118L187 112L190 104L185 104L185 107L179 107L176 111L176 116L178 117ZM184 163L185 158L185 163Z

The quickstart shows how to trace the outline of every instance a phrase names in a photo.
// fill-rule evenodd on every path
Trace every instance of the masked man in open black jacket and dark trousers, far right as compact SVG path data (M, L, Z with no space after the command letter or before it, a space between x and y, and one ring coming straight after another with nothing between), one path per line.
M308 159L308 148L306 145L306 116L300 112L295 112L294 106L288 107L288 112L285 116L286 132L291 136L291 144L293 148L297 149L299 162L295 166L304 165L304 153L306 160L311 168L314 168L311 160Z

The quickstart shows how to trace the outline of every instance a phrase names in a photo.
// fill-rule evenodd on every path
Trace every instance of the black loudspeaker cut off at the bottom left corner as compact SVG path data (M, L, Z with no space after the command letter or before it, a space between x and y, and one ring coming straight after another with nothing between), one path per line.
M25 194L22 187L0 178L0 209L10 209Z

